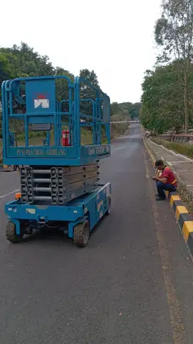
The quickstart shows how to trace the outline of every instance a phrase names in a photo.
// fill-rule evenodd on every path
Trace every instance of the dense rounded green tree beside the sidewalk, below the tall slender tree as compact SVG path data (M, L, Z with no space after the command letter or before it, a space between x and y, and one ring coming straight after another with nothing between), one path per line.
M147 70L142 90L140 119L143 126L158 134L168 130L179 133L184 124L184 99L178 63L156 68L155 71Z

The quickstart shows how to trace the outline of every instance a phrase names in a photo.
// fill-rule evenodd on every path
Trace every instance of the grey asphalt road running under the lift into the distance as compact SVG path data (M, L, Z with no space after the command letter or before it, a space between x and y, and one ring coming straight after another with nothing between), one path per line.
M152 174L133 124L101 163L113 212L85 249L54 233L9 244L18 174L0 174L0 343L192 344L192 259Z

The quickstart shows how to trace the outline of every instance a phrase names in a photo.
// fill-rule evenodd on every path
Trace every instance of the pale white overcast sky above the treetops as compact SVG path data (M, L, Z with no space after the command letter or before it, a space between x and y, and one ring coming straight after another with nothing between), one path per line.
M55 67L94 70L111 102L140 101L144 72L155 63L161 0L1 2L1 47L23 41Z

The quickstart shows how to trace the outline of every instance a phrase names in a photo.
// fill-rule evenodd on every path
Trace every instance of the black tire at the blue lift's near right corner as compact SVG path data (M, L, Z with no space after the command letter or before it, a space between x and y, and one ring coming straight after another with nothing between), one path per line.
M77 247L85 247L89 242L90 226L85 220L74 227L74 242Z

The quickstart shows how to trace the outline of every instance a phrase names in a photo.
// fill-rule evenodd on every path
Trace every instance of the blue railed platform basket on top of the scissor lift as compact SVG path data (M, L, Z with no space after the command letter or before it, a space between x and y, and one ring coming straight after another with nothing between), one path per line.
M58 82L66 82L66 99L58 97ZM89 87L92 96L81 95L82 85ZM110 156L110 99L82 77L75 77L74 82L65 75L18 77L2 82L1 94L4 164L79 166ZM18 141L18 127L23 128L22 142ZM65 146L64 128L69 132ZM82 144L85 128L92 134L91 144ZM42 144L38 136L37 144L31 141L37 131L46 135Z

